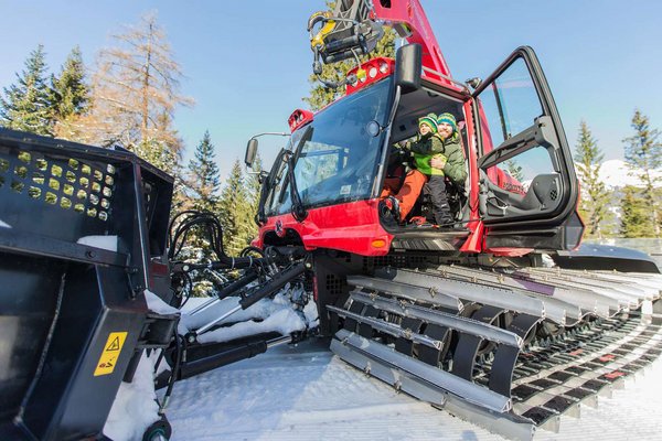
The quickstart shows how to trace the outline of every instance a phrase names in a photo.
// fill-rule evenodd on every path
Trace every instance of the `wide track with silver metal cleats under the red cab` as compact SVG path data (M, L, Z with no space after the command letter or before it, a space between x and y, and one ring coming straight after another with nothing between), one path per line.
M348 277L344 306L328 306L339 318L331 351L396 390L531 440L662 354L662 319L623 313L651 295L632 288L637 275L549 272L558 284L538 269L461 266Z

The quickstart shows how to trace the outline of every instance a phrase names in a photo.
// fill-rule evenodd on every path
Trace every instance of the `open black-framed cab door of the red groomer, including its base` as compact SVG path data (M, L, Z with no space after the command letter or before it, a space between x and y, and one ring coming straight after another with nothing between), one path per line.
M533 50L513 52L473 98L484 249L577 247L573 157Z

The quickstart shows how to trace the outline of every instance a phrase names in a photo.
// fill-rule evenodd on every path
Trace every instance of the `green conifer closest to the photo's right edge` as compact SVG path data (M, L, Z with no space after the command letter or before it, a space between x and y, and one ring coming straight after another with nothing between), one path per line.
M638 176L643 183L642 196L649 207L650 223L652 229L649 236L660 237L660 208L655 197L655 186L661 181L652 172L662 166L662 143L658 142L660 132L651 129L649 118L639 109L634 110L632 117L634 135L626 138L626 162L631 169L631 174Z

